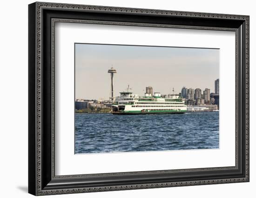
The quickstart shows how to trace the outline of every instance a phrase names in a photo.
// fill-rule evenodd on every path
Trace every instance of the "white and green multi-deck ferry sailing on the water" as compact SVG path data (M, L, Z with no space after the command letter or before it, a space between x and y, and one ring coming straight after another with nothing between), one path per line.
M164 114L164 113L184 113L187 106L184 99L179 95L169 94L162 97L161 93L145 93L144 97L139 97L132 92L120 92L112 105L113 114Z

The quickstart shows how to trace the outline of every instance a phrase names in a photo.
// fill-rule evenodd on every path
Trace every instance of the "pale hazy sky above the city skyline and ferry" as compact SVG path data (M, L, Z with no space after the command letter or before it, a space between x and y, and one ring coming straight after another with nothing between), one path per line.
M219 59L219 49L75 44L75 98L109 99L112 66L115 97L128 85L140 96L146 86L162 94L183 86L214 92Z

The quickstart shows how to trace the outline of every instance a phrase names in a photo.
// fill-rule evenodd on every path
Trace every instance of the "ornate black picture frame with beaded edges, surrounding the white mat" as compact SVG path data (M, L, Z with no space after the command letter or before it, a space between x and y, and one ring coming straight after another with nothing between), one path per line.
M249 182L249 16L35 2L28 6L28 192L33 195ZM236 32L236 166L55 176L54 24Z

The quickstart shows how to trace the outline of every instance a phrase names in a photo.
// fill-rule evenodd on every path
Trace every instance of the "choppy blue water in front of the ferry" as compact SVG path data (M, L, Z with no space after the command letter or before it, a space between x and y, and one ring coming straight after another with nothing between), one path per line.
M75 114L75 153L219 148L219 112Z

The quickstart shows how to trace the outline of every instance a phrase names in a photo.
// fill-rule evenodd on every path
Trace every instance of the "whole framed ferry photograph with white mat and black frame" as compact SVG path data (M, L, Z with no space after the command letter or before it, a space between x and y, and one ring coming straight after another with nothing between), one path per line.
M28 6L28 192L249 182L249 16Z

